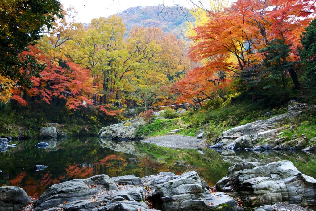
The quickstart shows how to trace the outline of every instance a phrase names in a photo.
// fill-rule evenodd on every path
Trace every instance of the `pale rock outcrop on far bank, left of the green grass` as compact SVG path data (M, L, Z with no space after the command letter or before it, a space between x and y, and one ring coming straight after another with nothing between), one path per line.
M102 127L98 133L99 138L111 138L112 140L131 140L138 137L134 136L134 132L140 125L145 125L143 117L139 119L124 121L118 124Z

